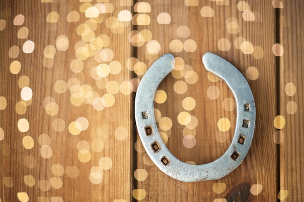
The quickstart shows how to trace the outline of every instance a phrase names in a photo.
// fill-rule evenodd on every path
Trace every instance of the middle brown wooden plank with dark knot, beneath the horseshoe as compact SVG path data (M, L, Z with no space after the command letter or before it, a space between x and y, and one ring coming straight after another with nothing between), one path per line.
M228 5L223 5L226 3ZM140 37L133 41L137 52L135 63L143 62L150 67L158 57L169 52L179 57L176 58L178 64L183 64L176 67L181 69L182 76L179 72L174 72L174 76L170 74L158 88L163 91L154 99L158 128L165 140L168 137L169 150L180 160L203 164L220 157L230 145L236 119L233 95L223 81L207 74L202 64L206 51L225 58L246 76L256 102L257 121L253 144L244 162L217 181L183 183L170 178L151 162L137 136L134 177L138 182L133 189L134 199L275 201L277 151L272 139L275 129L269 124L276 114L276 69L271 51L275 41L275 13L272 5L226 0L149 0L142 5L145 9L136 10L136 4L134 7L137 15L133 23L137 24L135 29L139 33L133 34L149 33L142 31L149 30L152 37L147 42ZM255 19L248 21L253 15ZM138 25L138 22L146 23ZM242 44L244 41L247 42ZM140 79L143 73L136 71ZM193 100L195 105L190 104ZM180 113L183 116L179 117ZM187 119L189 114L192 117ZM223 124L218 126L220 119ZM192 122L188 123L189 120Z

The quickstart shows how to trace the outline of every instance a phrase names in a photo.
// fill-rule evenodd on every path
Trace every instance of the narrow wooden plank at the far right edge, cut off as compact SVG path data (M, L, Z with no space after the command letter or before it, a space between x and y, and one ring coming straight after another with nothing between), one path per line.
M284 4L284 5L283 5ZM281 201L301 201L304 198L304 2L283 1L280 9L281 40L277 54L280 57L280 118L277 132L280 144ZM284 52L280 51L283 48ZM279 139L278 137L281 137Z

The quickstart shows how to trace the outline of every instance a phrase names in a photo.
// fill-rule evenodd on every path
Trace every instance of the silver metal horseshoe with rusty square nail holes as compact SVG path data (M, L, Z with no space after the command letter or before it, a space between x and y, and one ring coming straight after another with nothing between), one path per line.
M236 130L228 150L213 162L191 165L177 159L159 135L154 117L153 99L157 86L174 68L174 57L165 54L142 77L135 96L135 121L141 142L154 164L183 182L217 180L232 172L243 161L253 140L255 104L253 94L243 75L229 62L207 52L205 68L222 78L236 100Z

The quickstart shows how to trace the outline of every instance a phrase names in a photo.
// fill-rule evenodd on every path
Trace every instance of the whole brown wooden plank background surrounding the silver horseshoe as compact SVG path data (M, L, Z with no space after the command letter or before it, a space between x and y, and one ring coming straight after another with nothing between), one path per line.
M2 0L0 202L303 200L303 22L302 0ZM144 151L135 92L172 53L154 98L159 131L182 161L217 159L236 107L205 70L207 51L247 79L256 128L232 173L183 183Z

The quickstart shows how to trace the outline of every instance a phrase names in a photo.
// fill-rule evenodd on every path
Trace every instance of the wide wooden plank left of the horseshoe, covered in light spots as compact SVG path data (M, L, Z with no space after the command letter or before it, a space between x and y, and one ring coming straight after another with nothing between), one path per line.
M132 2L83 1L0 3L2 202L130 201Z

